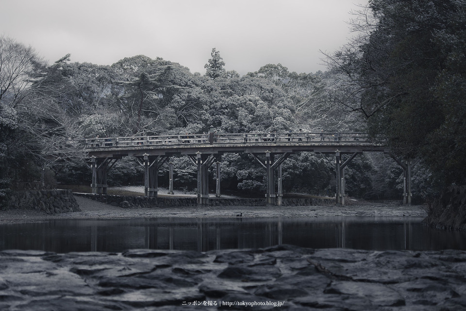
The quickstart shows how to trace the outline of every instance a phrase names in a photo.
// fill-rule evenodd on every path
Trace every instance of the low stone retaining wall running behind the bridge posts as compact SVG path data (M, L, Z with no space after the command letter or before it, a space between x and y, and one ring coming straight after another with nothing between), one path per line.
M197 206L196 197L145 197L145 196L113 196L75 193L101 203L120 206L123 208L151 208L151 207L184 207ZM266 206L265 198L217 198L209 199L211 206ZM334 205L332 198L284 198L284 206L328 206Z

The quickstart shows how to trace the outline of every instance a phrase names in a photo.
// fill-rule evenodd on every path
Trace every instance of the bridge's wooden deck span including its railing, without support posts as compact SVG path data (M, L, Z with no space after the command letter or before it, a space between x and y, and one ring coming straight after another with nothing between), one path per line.
M381 143L371 142L368 136L362 133L248 133L95 138L85 141L85 150L89 156L97 158L119 158L144 154L187 155L197 152L380 152L388 151L388 148Z

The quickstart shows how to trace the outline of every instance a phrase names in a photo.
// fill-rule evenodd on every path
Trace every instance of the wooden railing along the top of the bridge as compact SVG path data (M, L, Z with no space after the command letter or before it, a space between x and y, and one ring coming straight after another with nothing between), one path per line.
M211 141L212 140L212 141ZM111 147L155 147L169 145L221 145L221 144L273 144L292 143L305 144L310 142L368 142L365 133L312 133L312 132L269 132L269 133L241 133L241 134L185 134L166 136L134 136L134 137L105 137L85 139L87 149Z

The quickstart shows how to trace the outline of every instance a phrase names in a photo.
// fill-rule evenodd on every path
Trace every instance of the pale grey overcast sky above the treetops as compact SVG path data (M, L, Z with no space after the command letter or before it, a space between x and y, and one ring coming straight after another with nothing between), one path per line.
M266 64L325 70L319 50L350 38L350 12L367 0L0 0L0 35L31 45L49 63L111 65L143 54L192 73L216 48L241 75Z

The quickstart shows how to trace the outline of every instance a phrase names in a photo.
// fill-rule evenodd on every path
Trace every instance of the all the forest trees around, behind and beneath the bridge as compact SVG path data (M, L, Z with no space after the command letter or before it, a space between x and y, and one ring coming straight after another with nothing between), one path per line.
M397 157L419 160L413 196L430 199L466 184L465 0L371 0L350 21L354 36L322 53L325 72L265 64L240 76L220 51L205 73L162 58L126 57L113 65L48 64L33 47L0 36L0 199L19 184L90 183L80 148L69 140L266 131L367 132ZM243 154L222 156L222 192L263 196L264 172ZM333 157L302 152L283 163L285 193L333 196ZM177 189L196 187L196 167L174 157ZM160 170L164 185L167 167ZM400 199L402 169L388 155L356 157L349 196ZM143 183L131 158L109 172L110 185Z

